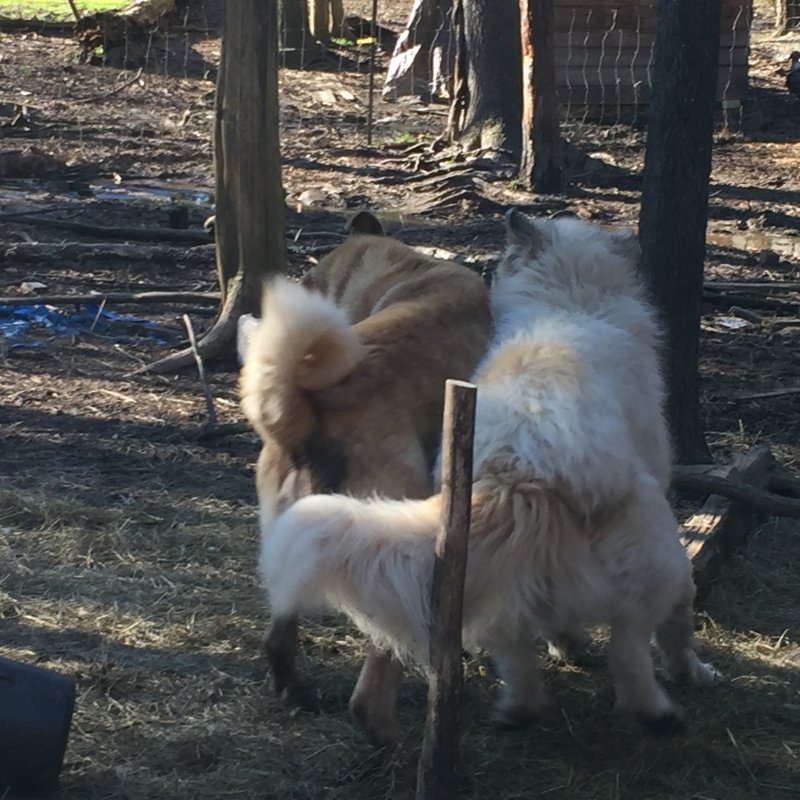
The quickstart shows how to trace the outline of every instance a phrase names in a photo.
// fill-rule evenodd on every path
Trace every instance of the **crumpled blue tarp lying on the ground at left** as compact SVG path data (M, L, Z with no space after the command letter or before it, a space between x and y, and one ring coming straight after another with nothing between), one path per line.
M33 334L45 329L57 336L79 336L94 331L115 342L149 339L164 344L163 329L155 322L140 317L116 314L98 303L86 303L80 311L64 313L53 306L0 305L0 334L10 341L11 348L40 347L43 342ZM125 333L122 334L121 331Z

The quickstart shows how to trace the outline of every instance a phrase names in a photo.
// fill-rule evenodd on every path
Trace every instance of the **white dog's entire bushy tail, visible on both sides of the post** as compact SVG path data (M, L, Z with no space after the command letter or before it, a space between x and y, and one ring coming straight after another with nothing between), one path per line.
M275 518L265 515L260 569L273 614L335 609L377 646L428 663L441 507L441 495L413 501L312 495ZM554 538L547 532L564 530L568 514L558 497L541 486L490 480L473 484L464 594L470 641L476 641L500 606L525 613L525 597L544 596L546 587L527 585L538 578L523 562L554 561ZM506 594L514 592L523 573L531 577L512 602Z

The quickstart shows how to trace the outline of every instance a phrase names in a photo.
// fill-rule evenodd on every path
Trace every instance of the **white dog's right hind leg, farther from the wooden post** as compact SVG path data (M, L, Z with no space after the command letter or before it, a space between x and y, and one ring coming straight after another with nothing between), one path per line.
M614 676L615 710L633 714L653 733L678 733L683 709L659 686L650 652L651 629L641 620L611 625L608 658Z

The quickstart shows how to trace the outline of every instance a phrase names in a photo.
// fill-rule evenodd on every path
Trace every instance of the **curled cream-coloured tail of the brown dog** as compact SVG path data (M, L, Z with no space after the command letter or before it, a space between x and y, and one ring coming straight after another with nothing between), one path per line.
M342 309L286 279L265 290L261 322L247 339L242 409L256 430L279 439L282 427L303 427L302 393L334 386L364 354Z

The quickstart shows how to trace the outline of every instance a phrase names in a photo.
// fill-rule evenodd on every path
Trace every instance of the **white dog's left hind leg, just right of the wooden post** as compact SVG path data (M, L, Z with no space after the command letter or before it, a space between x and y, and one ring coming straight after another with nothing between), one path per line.
M490 652L503 681L492 720L504 729L533 722L547 705L534 635L493 631L483 646Z

